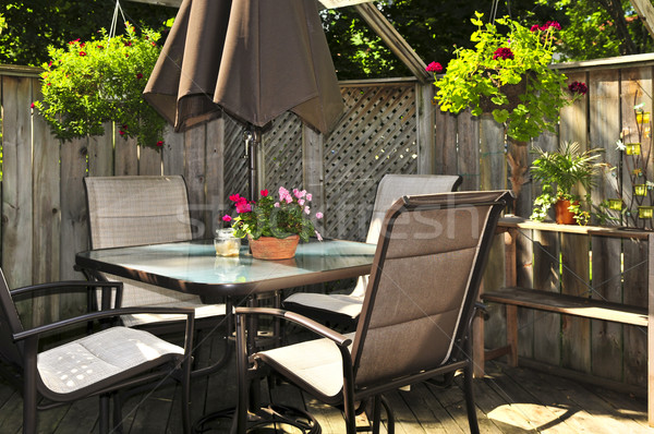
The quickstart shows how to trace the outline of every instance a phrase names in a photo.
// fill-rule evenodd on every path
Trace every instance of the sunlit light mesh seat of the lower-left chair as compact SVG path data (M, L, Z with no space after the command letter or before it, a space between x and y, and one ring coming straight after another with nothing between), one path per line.
M39 353L37 369L52 393L71 394L97 389L121 373L146 372L162 358L181 362L183 355L183 348L147 331L112 327Z

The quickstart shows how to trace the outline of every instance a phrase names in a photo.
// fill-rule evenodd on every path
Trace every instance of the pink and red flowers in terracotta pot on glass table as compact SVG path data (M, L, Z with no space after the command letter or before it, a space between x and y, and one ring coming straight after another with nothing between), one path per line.
M289 192L280 186L278 198L274 198L268 190L262 190L258 202L239 194L229 198L234 203L238 216L222 219L232 221L235 237L247 236L252 255L256 258L288 260L295 255L300 239L308 241L315 236L322 240L310 218L312 195L305 190ZM315 218L323 218L323 214L316 213Z

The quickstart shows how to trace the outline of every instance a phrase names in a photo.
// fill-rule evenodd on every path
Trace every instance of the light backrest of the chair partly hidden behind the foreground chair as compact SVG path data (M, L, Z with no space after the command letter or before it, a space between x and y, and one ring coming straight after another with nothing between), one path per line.
M452 192L460 184L461 177L458 174L385 174L379 181L379 185L377 185L377 195L375 196L375 205L373 206L373 215L365 242L377 242L384 216L398 198L415 194ZM360 277L351 296L363 299L367 282L367 276Z

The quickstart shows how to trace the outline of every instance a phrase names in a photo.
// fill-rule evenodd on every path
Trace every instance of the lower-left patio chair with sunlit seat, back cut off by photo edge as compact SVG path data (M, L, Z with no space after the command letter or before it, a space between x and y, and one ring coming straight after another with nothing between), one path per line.
M120 282L65 281L10 290L0 269L0 365L7 379L23 394L23 433L37 430L38 410L47 410L78 399L99 396L99 431L109 432L109 408L113 400L113 429L121 429L119 391L136 386L154 386L162 377L180 381L184 433L191 433L190 373L194 312L192 309L125 308L86 313L51 324L25 328L15 301L71 291L116 290ZM90 321L108 320L136 312L183 315L184 348L145 330L114 326L52 347L52 335ZM61 335L59 335L61 336ZM41 349L41 337L49 349ZM46 340L46 339L44 339ZM70 340L70 338L69 338ZM156 383L155 383L156 382ZM40 399L44 398L44 399Z

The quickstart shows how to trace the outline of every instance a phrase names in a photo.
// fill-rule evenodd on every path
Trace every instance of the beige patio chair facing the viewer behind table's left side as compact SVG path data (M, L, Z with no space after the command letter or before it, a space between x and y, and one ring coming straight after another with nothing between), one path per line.
M93 177L85 178L88 228L92 249L108 249L141 244L185 241L192 238L186 184L180 176L169 177ZM205 304L198 296L173 291L141 281L95 273L99 280L122 280L120 306L193 308L197 329L213 329L226 317L225 303ZM117 294L112 294L114 299ZM111 303L113 303L113 299ZM101 305L100 294L93 300ZM157 314L123 315L129 327L140 327L161 334L177 330L182 316ZM230 328L228 325L226 330ZM226 331L227 334L227 331ZM226 351L219 367L228 359ZM198 372L194 371L193 375Z

